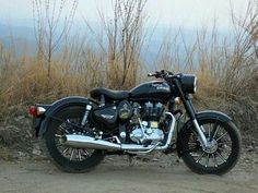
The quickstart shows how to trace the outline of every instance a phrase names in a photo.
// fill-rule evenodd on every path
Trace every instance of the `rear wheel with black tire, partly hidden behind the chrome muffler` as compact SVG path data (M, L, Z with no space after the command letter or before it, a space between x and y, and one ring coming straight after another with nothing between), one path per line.
M54 164L63 171L85 172L104 158L103 150L74 148L62 143L64 134L86 134L80 125L85 107L66 107L57 112L48 124L45 135L46 147Z

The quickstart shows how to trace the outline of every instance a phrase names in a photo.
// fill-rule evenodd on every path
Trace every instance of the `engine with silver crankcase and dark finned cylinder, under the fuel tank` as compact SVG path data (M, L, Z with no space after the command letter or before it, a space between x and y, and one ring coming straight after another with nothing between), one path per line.
M132 105L130 140L138 144L156 144L164 140L164 132L160 128L165 107L161 102L148 101L140 106Z

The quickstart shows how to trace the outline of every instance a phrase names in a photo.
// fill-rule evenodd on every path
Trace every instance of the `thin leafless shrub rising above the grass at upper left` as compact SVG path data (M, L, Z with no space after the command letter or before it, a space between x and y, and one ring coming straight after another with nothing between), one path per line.
M64 5L66 0L47 0L44 2L33 0L34 29L38 49L37 60L47 61L48 77L50 77L52 56L71 28L78 0L72 1L68 15L62 19Z

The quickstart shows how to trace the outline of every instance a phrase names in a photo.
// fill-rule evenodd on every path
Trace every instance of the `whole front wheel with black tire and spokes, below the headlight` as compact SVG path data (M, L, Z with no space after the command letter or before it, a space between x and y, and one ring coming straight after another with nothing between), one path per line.
M215 119L199 121L208 147L202 148L195 129L184 131L185 153L183 160L197 173L223 174L230 171L241 154L241 137L233 122Z

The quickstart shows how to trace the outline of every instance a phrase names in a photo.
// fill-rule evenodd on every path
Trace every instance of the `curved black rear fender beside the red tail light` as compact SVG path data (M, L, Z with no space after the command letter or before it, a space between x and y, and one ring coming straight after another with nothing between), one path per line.
M47 131L47 126L52 114L55 114L55 112L57 112L61 108L68 107L71 105L87 105L90 102L93 105L93 108L97 106L95 100L89 99L86 97L80 97L80 96L70 96L70 97L61 98L60 100L55 101L51 105L51 107L48 108L47 111L45 112L44 120L42 121L42 124L38 131L36 131L36 133L38 133L37 136L44 135L44 133Z

